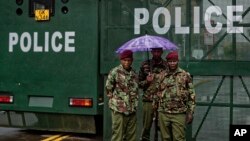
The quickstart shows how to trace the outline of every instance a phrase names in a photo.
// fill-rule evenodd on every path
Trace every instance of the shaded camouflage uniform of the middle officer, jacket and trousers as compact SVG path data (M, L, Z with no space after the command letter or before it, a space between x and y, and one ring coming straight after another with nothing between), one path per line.
M153 122L154 110L152 106L153 95L156 94L156 81L150 84L147 83L147 75L150 72L150 65L152 67L152 74L159 74L161 71L166 70L166 61L161 59L156 63L153 59L146 60L142 63L139 71L139 87L143 90L143 129L141 140L150 140L150 129Z

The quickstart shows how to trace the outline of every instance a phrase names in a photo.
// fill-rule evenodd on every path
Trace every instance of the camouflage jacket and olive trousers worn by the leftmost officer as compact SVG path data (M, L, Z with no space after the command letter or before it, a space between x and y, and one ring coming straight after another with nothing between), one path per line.
M133 69L122 65L113 68L106 81L106 92L112 112L112 141L136 140L136 109L138 106L138 80Z

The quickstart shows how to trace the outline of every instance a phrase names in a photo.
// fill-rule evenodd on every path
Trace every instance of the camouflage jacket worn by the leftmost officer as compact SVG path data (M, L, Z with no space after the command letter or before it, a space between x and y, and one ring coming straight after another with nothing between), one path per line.
M138 106L138 78L133 69L126 71L122 65L113 68L106 81L110 109L129 115Z

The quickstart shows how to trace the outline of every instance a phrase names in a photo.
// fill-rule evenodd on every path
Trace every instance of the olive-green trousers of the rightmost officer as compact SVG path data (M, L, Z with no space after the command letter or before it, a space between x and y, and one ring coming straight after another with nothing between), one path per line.
M158 116L162 141L186 140L186 114L159 112Z

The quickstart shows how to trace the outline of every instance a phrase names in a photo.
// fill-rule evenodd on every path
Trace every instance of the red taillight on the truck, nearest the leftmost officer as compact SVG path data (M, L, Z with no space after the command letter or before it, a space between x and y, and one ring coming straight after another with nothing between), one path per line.
M93 101L91 98L70 98L69 105L77 107L92 107Z

